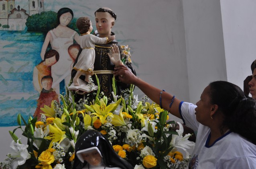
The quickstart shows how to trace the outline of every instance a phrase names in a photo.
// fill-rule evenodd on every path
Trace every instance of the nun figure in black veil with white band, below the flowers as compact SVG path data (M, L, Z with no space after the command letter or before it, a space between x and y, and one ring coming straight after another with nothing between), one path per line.
M75 143L73 169L132 169L99 131L87 130Z

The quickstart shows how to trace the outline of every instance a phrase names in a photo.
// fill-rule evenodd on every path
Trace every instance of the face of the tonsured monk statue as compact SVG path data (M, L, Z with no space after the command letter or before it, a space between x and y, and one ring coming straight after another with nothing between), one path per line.
M107 37L110 35L111 29L114 26L114 20L115 19L108 12L96 12L96 28L100 37Z

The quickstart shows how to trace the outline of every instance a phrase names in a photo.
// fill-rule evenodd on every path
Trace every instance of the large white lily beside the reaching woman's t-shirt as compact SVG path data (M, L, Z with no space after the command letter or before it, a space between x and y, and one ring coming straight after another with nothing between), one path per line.
M182 136L184 131L183 126L181 125L181 123L177 123L179 124L179 130L176 131L179 135L173 135L170 146L183 149L186 152L186 158L189 158L189 152L187 151L187 149L194 147L195 143L188 140L191 134L186 134L184 137Z

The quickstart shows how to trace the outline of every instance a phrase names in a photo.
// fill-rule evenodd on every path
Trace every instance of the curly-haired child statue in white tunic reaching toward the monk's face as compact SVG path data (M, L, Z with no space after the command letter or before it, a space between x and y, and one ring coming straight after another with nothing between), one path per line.
M75 77L73 78L73 83L75 86L79 86L78 79L81 75L85 75L85 81L89 82L91 74L93 74L93 64L95 60L95 44L107 44L111 42L116 37L115 35L108 35L105 38L99 38L93 34L90 34L93 30L91 26L91 21L88 17L80 17L76 26L79 30L80 36L78 44L80 44L83 49L74 69L77 70Z

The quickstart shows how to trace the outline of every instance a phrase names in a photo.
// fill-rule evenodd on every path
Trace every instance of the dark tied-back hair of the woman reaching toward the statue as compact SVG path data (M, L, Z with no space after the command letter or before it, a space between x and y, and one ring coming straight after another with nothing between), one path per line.
M224 115L223 127L240 134L256 145L256 100L247 98L240 87L226 81L209 84L211 104Z

